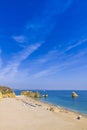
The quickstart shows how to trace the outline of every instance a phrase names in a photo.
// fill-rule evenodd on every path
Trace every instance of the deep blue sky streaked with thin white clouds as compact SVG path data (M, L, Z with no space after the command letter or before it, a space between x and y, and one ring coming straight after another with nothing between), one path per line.
M0 1L0 84L87 89L86 0Z

